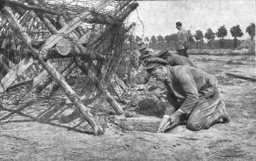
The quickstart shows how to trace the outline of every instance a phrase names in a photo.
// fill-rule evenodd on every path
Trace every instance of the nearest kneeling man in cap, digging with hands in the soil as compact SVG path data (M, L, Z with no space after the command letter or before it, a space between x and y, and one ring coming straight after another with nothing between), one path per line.
M230 122L225 103L219 98L217 79L212 75L192 66L166 66L168 63L160 58L146 63L148 74L164 82L171 104L157 132L164 132L162 128L169 121L180 123L181 118L188 118L187 128L192 131Z

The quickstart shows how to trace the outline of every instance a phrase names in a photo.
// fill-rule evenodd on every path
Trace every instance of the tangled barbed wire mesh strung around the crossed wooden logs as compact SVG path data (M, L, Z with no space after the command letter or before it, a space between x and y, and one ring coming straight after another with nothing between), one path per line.
M90 3L85 0L6 0L5 6L15 14L18 22L32 38L31 43L35 49L40 49L45 40L52 35L45 23L38 17L38 14L44 14L44 17L52 23L56 30L61 29L70 20L85 11L90 11L94 20L107 20L102 24L83 23L64 38L76 44L79 37L87 34L87 39L82 45L90 51L99 53L102 61L90 60L89 57L81 57L81 60L87 62L86 65L95 73L100 82L99 86L108 89L114 95L113 89L111 90L109 86L113 77L119 77L127 86L133 80L133 75L131 75L133 69L130 65L131 50L133 50L131 49L131 43L133 40L130 37L133 37L132 30L134 29L132 29L132 23L125 21L127 16L125 17L123 13L127 12L126 10L132 5L136 9L136 5L131 1L113 1L101 11L96 12L90 9L93 3L94 1ZM24 7L22 4L26 6ZM36 8L29 5L36 6ZM120 20L120 17L123 20ZM0 79L2 80L9 69L28 55L30 55L29 50L26 49L17 33L13 32L9 23L0 14ZM56 58L47 57L51 63L57 63L56 69L60 73L63 73L65 69L67 71L68 67L72 69L65 77L67 83L72 86L79 96L85 96L81 99L90 103L90 100L95 98L96 92L97 96L102 95L102 92L98 92L94 83L76 67L76 63L73 63L78 61L76 58L77 55L70 54L67 56L57 55ZM34 63L28 69L18 71L22 74L16 77L14 83L29 80L39 75L43 70L41 64L34 60ZM37 110L39 112L42 108L51 108L56 104L67 101L68 97L62 92L60 86L52 80L50 76L47 76L32 89L29 82L26 82L23 86L8 89L0 98L1 108L6 110L24 107L21 108L21 111L29 108L32 109L29 110L30 112L36 112ZM29 114L29 112L26 111L26 114ZM6 116L3 111L1 115Z

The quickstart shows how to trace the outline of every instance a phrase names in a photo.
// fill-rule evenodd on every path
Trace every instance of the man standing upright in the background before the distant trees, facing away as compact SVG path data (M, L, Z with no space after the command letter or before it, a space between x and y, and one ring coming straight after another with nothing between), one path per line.
M176 28L179 30L176 40L176 52L178 55L189 58L186 53L187 49L189 49L189 33L182 28L181 22L176 23Z

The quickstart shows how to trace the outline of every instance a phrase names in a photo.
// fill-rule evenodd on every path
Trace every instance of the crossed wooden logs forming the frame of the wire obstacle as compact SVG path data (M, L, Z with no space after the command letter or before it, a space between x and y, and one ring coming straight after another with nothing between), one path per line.
M67 23L60 19L59 25L56 26L52 24L52 20L49 15L55 15L58 13L47 9L40 9L35 3L33 4L32 1L27 2L28 3L23 3L18 0L4 0L2 3L3 6L0 7L0 12L3 15L3 18L9 24L9 26L11 26L13 32L20 37L20 41L24 44L24 46L26 46L26 49L28 49L28 54L26 57L17 65L13 66L1 80L0 97L3 96L5 92L8 92L8 90L25 84L29 85L29 88L31 89L38 88L38 92L41 92L50 83L52 83L53 80L55 80L56 84L52 88L56 89L61 87L64 93L68 96L69 100L72 101L79 112L81 112L82 116L87 120L88 124L90 124L93 129L93 134L102 135L102 127L96 123L93 115L91 115L87 107L81 103L81 99L67 83L65 78L73 71L73 69L78 67L82 72L84 72L87 78L94 83L96 88L104 94L106 100L108 103L110 103L116 113L123 113L123 109L119 103L116 102L114 96L100 85L101 82L97 77L97 73L94 73L94 70L92 70L92 68L97 68L97 66L104 67L104 63L102 62L108 61L97 49L101 43L105 41L104 35L108 33L109 28L106 27L105 29L99 31L99 33L96 34L96 36L93 37L93 39L91 39L86 46L84 43L90 39L90 29L85 31L85 34L79 33L76 29L82 23L105 24L106 26L122 26L125 18L137 8L138 3L131 1L119 2L119 5L117 5L112 12L109 13L108 18L106 18L100 16L97 17L95 15L102 9L104 10L106 6L110 5L114 1L97 0L95 5L90 7L90 11L85 11L79 14L73 18L73 20ZM44 32L48 32L51 35L46 40L41 42L42 45L38 49L35 48L31 43L32 38L27 34L28 31L23 29L15 15L10 10L10 8L12 9L13 5L22 9L34 11L35 15L49 30ZM135 26L135 23L132 23L130 26L126 27L124 32L128 32L133 26ZM33 32L37 33L36 31ZM68 37L75 41L70 41ZM66 64L61 72L58 72L55 69L57 64L51 62L51 58L59 57L70 59L70 63ZM21 71L26 71L26 69L28 69L35 60L38 60L38 63L40 63L44 68L44 71L34 78L14 83L17 76L21 74ZM47 78L48 75L50 76L49 78ZM45 80L45 78L47 79ZM117 77L117 75L114 74L114 78L112 79L116 80L114 81L115 83L111 83L111 85L119 97L121 95L120 90L123 90L122 92L125 91L129 94L128 87L125 86L125 83L123 83L122 80ZM38 86L38 84L43 80L44 82ZM119 83L116 84L116 82ZM10 115L13 113L15 112L11 112Z

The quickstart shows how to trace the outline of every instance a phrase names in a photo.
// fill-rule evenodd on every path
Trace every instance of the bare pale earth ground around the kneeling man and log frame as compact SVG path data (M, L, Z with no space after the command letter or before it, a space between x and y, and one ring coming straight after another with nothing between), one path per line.
M107 126L104 135L93 136L79 115L66 123L60 119L47 121L45 117L31 121L16 115L8 123L1 123L0 160L256 160L255 82L224 74L255 76L255 56L189 58L218 79L219 91L231 114L229 124L216 124L198 132L182 125L166 133L155 133L161 121L159 115L142 115L130 108L133 117L113 112L109 112L110 116L97 115L97 120ZM231 59L233 63L227 64ZM62 109L55 107L55 113ZM72 111L65 110L66 115Z

